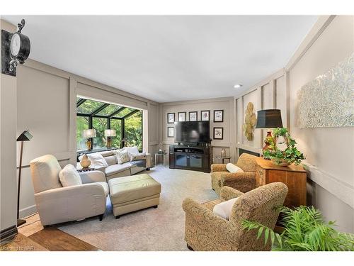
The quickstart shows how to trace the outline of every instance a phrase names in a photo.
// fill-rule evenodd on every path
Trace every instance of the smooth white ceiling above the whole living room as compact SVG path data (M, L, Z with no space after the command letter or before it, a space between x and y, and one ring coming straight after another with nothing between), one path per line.
M30 58L154 101L234 96L284 67L316 16L2 16ZM244 87L234 89L234 84Z

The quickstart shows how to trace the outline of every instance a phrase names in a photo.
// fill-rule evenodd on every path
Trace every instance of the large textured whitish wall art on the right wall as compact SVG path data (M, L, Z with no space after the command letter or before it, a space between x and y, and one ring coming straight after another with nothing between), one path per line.
M297 93L300 128L354 126L354 53Z

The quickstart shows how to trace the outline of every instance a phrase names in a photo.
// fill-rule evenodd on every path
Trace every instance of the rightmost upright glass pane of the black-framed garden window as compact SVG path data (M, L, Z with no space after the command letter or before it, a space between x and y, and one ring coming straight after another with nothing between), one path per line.
M142 111L125 119L125 139L127 146L142 150Z

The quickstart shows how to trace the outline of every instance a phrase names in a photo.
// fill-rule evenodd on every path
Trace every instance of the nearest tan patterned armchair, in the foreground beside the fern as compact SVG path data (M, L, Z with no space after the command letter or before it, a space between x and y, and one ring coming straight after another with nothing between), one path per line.
M185 211L185 241L193 250L270 250L264 245L264 234L257 239L257 231L243 229L242 221L256 221L274 229L280 206L287 195L283 183L270 183L242 193L232 187L222 187L221 199L198 204L193 199L183 201ZM239 197L232 206L229 220L215 214L216 204Z

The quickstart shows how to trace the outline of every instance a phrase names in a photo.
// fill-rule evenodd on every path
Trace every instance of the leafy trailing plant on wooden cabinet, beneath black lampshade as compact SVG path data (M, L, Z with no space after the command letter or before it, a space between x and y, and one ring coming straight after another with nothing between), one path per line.
M278 143L278 138L284 138L284 141ZM296 148L296 141L291 138L287 128L275 128L273 131L273 141L269 142L269 148L263 152L264 157L272 160L273 164L287 166L299 163L305 159L304 154ZM285 143L285 150L280 150L278 144Z

